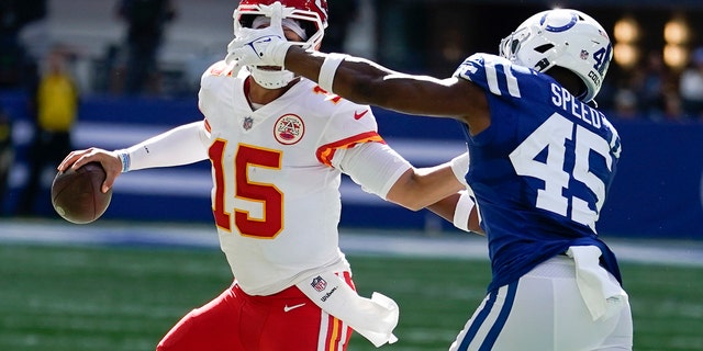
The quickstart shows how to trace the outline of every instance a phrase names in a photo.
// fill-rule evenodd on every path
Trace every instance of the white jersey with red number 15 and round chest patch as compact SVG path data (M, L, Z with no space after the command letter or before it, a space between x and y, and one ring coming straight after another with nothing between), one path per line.
M371 110L302 79L253 111L246 75L239 76L217 63L199 93L212 208L235 279L247 294L269 295L331 268L348 270L338 248L341 171L332 158L357 144L383 143Z

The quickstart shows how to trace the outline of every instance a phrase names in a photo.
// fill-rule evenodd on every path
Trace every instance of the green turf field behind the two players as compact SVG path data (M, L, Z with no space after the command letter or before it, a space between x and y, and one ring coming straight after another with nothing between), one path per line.
M349 256L362 295L401 306L400 341L446 350L483 297L487 261ZM703 350L703 268L622 263L635 350ZM0 350L154 350L228 286L217 250L0 246ZM376 350L355 336L349 350Z

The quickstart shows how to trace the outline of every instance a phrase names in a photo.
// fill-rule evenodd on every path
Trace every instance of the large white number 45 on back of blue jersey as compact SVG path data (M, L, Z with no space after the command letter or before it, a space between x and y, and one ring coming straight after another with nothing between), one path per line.
M573 169L568 172L565 170L566 141L572 138L578 143L573 143L576 145L572 150L574 152ZM546 160L537 160L545 148L547 149ZM595 222L605 200L605 183L591 170L589 165L591 151L602 156L609 170L612 169L613 158L605 139L555 113L510 154L510 159L517 174L544 181L544 189L537 190L536 206L538 208L571 218L595 231ZM563 195L562 190L569 188L571 177L593 192L596 199L595 211L589 207L588 201L577 195L570 199ZM569 201L571 201L570 213L568 213Z

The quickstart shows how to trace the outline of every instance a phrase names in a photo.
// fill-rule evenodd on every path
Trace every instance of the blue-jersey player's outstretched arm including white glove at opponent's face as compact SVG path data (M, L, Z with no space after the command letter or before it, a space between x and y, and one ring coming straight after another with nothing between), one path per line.
M278 26L237 33L227 46L226 61L235 67L283 66L356 103L456 118L473 134L490 124L486 92L472 82L408 75L359 57L305 49L286 41Z

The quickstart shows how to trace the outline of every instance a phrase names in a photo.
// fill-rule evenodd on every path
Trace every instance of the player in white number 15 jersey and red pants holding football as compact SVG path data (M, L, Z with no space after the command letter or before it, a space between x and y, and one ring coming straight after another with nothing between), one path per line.
M326 19L324 0L243 0L234 26L275 20L287 38L316 49ZM157 350L345 350L352 329L376 346L393 342L398 306L357 295L338 247L341 173L416 211L458 196L467 157L415 169L386 145L368 105L280 67L215 63L202 75L199 107L204 121L123 150L77 150L59 166L100 161L107 190L121 172L210 159L214 222L235 281Z

